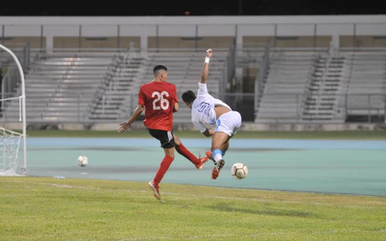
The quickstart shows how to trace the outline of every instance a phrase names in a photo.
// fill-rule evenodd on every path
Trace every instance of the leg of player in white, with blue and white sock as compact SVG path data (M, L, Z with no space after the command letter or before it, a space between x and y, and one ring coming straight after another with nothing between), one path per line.
M212 138L212 153L213 159L216 162L212 170L212 179L217 179L220 174L221 168L224 166L225 161L222 159L221 146L229 140L229 135L225 132L214 132Z

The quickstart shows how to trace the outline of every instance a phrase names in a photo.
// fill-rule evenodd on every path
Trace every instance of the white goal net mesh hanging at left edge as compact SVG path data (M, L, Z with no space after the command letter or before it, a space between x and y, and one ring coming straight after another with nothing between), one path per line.
M0 176L18 176L21 133L0 127Z

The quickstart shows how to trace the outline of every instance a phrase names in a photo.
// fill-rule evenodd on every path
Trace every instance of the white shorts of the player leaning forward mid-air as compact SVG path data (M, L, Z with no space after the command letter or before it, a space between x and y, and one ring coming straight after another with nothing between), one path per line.
M237 111L230 111L222 114L216 120L214 132L224 132L229 136L236 134L237 129L241 126L241 115Z

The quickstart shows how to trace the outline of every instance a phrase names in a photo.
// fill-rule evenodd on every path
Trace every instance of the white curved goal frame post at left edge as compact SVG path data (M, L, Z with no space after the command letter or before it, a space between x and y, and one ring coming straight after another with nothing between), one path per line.
M13 59L15 60L16 62L16 65L19 69L19 73L20 73L20 79L21 79L21 96L19 97L16 97L16 98L21 98L21 121L23 122L23 133L22 133L22 136L23 136L23 168L22 168L22 174L23 175L26 175L27 174L27 138L26 138L26 134L27 134L27 131L26 131L26 115L25 115L25 80L24 80L24 72L23 72L23 68L21 67L21 64L20 64L20 61L19 59L17 59L16 55L7 47L5 47L4 45L0 44L0 48L2 48L3 50L5 50L6 52L8 52L9 54L11 54L11 56L13 57Z

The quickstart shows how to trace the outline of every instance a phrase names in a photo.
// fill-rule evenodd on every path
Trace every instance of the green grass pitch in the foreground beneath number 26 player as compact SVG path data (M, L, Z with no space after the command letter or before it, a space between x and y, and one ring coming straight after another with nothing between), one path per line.
M236 180L235 180L236 181ZM0 240L384 240L386 198L0 178Z

